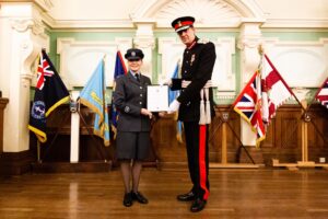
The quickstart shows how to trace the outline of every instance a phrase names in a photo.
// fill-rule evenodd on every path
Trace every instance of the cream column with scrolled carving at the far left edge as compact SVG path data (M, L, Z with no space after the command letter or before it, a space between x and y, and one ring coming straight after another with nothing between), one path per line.
M30 149L27 129L31 83L40 48L47 48L42 10L33 2L1 3L0 9L0 88L9 99L3 125L3 152Z

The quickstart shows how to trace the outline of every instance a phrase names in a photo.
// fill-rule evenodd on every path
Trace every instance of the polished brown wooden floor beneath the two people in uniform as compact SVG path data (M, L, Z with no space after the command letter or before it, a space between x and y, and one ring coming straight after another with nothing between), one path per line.
M140 191L150 203L130 208L117 170L2 177L0 218L328 218L327 170L211 169L210 182L207 208L191 214L176 200L190 188L185 169L144 169Z

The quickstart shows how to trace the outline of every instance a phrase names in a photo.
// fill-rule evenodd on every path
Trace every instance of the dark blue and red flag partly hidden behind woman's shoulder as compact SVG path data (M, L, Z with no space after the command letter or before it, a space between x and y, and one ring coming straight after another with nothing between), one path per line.
M125 65L125 61L121 57L120 51L118 50L116 53L116 60L115 60L115 70L114 70L114 81L113 81L113 93L115 92L115 87L116 87L116 79L122 74L127 73L127 68ZM112 130L114 132L114 138L116 138L116 127L117 127L117 115L118 112L115 107L114 104L114 99L112 95L112 106L110 106L110 126L112 126Z

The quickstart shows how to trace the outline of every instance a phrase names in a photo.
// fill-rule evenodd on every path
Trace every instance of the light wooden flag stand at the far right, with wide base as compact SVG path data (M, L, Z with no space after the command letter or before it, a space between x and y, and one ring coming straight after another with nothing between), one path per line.
M296 163L280 163L278 159L272 159L272 166L277 168L288 168L289 170L298 170L298 168L324 168L328 170L328 164L326 163L315 163L314 161L308 161L308 139L307 139L307 124L311 120L311 116L307 114L307 102L303 100L301 102L302 106L302 124L301 124L301 135L302 135L302 161Z

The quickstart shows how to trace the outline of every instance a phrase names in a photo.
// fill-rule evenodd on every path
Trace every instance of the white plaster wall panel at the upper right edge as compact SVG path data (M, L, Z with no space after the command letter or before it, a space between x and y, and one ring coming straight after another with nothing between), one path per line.
M327 78L328 38L318 42L267 38L266 51L290 87L318 88Z

